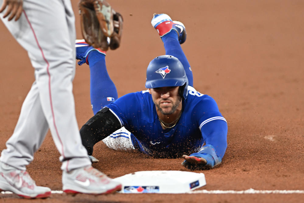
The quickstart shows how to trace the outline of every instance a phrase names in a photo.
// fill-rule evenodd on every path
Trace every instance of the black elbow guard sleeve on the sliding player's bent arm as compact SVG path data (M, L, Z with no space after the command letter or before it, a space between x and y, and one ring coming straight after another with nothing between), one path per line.
M80 129L82 145L89 155L93 154L93 146L121 128L118 118L104 107L86 122Z

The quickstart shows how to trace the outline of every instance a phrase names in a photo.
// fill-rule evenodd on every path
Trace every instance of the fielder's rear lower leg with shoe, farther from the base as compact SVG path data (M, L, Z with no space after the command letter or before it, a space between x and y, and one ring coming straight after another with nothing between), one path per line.
M31 115L36 116L31 117ZM51 195L50 188L35 184L26 173L25 167L33 160L33 154L43 142L47 130L48 124L41 109L37 83L34 82L23 102L14 133L6 142L7 149L1 153L1 191L11 191L24 198L47 198ZM30 137L24 135L32 135L37 140L30 145L28 143Z

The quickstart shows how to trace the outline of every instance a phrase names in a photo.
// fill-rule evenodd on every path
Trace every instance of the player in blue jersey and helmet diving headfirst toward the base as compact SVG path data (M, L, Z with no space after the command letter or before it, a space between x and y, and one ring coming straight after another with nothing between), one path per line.
M92 162L98 161L92 156L93 146L103 140L117 150L133 149L158 158L183 157L182 165L187 168L213 168L225 154L227 122L214 99L193 88L192 71L180 46L186 40L183 23L166 14L155 14L151 23L166 55L149 63L148 90L118 99L107 74L106 53L77 41L79 64L90 66L95 114L80 130L82 143Z

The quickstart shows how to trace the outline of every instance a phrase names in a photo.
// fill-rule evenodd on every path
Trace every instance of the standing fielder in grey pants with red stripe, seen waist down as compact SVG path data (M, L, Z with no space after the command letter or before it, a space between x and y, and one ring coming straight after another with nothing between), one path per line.
M96 9L103 9L98 15L113 15L110 5L101 0L81 0L80 11L86 12L86 6L92 8L93 3L98 3ZM64 192L108 194L121 190L120 183L91 166L82 146L72 94L76 34L70 0L0 0L0 5L1 20L28 52L35 72L14 133L1 153L0 190L24 198L51 195L50 188L37 186L26 173L26 165L33 160L49 128L61 154Z

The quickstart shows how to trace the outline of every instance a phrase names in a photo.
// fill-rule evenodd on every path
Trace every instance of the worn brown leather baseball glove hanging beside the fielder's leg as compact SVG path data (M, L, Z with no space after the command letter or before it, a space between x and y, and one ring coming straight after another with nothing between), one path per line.
M80 0L82 36L94 48L117 49L121 42L123 19L106 0Z

